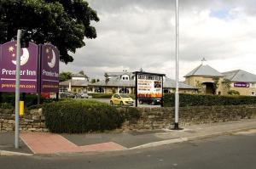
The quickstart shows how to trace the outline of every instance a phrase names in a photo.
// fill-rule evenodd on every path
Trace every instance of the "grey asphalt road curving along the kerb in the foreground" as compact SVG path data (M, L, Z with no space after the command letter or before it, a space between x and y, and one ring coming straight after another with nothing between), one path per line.
M98 155L0 156L2 169L255 169L256 133Z

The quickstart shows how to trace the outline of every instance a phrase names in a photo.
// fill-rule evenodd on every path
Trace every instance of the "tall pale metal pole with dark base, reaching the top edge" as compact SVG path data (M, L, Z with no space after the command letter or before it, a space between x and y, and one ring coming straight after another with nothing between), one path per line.
M176 91L175 91L175 122L174 129L178 129L178 107L179 107L179 94L178 94L178 0L176 0Z

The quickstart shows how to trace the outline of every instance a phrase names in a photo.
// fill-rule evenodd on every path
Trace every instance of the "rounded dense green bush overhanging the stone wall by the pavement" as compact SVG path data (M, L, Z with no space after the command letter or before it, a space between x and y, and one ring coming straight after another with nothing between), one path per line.
M50 132L81 133L112 130L125 121L116 108L89 100L67 100L43 105Z

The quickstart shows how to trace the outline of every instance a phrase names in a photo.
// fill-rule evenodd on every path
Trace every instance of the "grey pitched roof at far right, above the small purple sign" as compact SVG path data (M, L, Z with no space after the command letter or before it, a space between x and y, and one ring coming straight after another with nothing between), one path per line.
M222 74L231 82L256 82L256 75L245 70L232 70Z

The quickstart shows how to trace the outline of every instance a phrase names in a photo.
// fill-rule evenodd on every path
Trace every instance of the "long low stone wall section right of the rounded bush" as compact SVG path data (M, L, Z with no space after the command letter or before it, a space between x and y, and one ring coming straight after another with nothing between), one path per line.
M124 130L161 129L174 123L174 108L138 108L142 117L125 121ZM182 127L222 121L256 119L256 105L191 106L179 109Z

